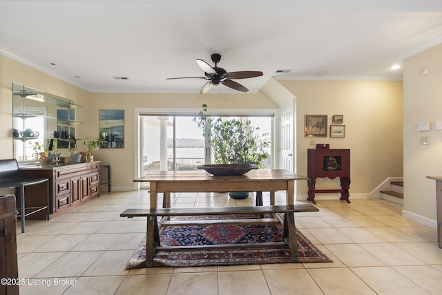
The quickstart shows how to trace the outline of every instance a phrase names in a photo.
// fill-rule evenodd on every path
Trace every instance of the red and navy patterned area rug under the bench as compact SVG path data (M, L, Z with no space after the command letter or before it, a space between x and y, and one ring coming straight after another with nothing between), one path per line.
M208 219L206 216L203 219ZM182 218L179 218L182 219ZM190 219L190 218L189 218ZM194 219L194 218L192 218ZM198 218L200 219L200 218ZM189 251L156 251L154 267L195 267L211 265L256 265L272 263L332 262L298 229L298 259L290 256L288 247L249 249L209 249ZM160 231L162 246L217 245L223 243L259 243L282 241L281 225L206 225L164 227ZM146 237L128 261L126 269L146 267Z

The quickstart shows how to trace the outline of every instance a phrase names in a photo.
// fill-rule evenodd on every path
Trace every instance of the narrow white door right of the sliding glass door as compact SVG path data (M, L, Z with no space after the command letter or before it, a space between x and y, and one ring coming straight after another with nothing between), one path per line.
M280 167L294 172L294 106L280 108Z

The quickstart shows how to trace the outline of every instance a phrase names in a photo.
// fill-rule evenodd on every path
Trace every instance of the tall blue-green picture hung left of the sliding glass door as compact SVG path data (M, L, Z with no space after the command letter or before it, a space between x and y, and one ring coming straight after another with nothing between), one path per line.
M102 149L124 148L124 110L99 110L99 138Z

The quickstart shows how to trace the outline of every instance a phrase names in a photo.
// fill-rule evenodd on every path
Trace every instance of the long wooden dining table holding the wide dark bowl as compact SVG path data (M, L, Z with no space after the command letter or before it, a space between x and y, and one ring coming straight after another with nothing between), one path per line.
M150 182L150 207L157 208L158 193L164 193L163 207L170 208L171 193L269 191L274 204L275 191L286 192L286 204L294 204L295 180L307 177L284 169L253 169L244 175L211 175L203 170L150 171L134 182Z

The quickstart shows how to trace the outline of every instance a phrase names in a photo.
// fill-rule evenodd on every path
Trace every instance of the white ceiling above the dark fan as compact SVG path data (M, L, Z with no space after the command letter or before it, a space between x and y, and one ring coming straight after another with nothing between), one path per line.
M0 53L90 92L198 93L166 78L204 75L212 53L264 73L236 80L249 93L273 75L401 80L392 64L441 42L440 0L0 0Z

